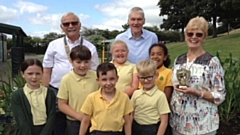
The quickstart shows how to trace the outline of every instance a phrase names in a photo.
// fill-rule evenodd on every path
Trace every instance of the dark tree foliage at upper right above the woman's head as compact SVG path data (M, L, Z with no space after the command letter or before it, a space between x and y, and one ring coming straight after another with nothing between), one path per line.
M159 0L159 16L167 16L163 19L161 28L165 30L181 30L182 40L184 28L188 21L196 16L203 16L212 23L212 36L217 36L217 23L223 19L231 18L236 21L239 18L239 0ZM230 19L228 19L230 21ZM238 19L239 21L239 19Z

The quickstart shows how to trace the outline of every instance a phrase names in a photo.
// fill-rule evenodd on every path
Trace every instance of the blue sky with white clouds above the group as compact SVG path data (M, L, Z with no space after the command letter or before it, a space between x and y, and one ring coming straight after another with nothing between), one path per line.
M60 19L66 12L79 16L82 26L122 30L132 7L143 8L144 26L159 26L159 0L0 0L0 23L19 26L32 37L62 34Z

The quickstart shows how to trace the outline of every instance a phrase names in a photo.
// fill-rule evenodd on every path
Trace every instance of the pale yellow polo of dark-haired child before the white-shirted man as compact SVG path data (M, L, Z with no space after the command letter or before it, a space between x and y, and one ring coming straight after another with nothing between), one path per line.
M95 71L89 70L85 76L79 76L71 71L62 78L57 97L68 100L68 105L80 113L86 97L99 89L96 79ZM67 118L76 120L69 116Z

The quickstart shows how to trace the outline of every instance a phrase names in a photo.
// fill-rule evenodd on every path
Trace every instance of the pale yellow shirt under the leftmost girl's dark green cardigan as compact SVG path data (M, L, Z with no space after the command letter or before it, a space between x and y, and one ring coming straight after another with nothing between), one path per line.
M47 121L47 110L45 99L47 97L47 87L40 85L36 90L30 89L27 84L23 87L24 94L31 106L33 125L43 125Z

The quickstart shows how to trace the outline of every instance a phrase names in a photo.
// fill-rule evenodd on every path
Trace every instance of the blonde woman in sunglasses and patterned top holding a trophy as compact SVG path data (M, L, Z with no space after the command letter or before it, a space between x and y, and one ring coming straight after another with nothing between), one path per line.
M173 66L173 135L215 135L219 127L218 105L226 95L224 71L219 59L203 48L207 36L208 22L203 17L192 18L185 30L188 51ZM176 72L182 68L191 72L187 88L178 87Z

